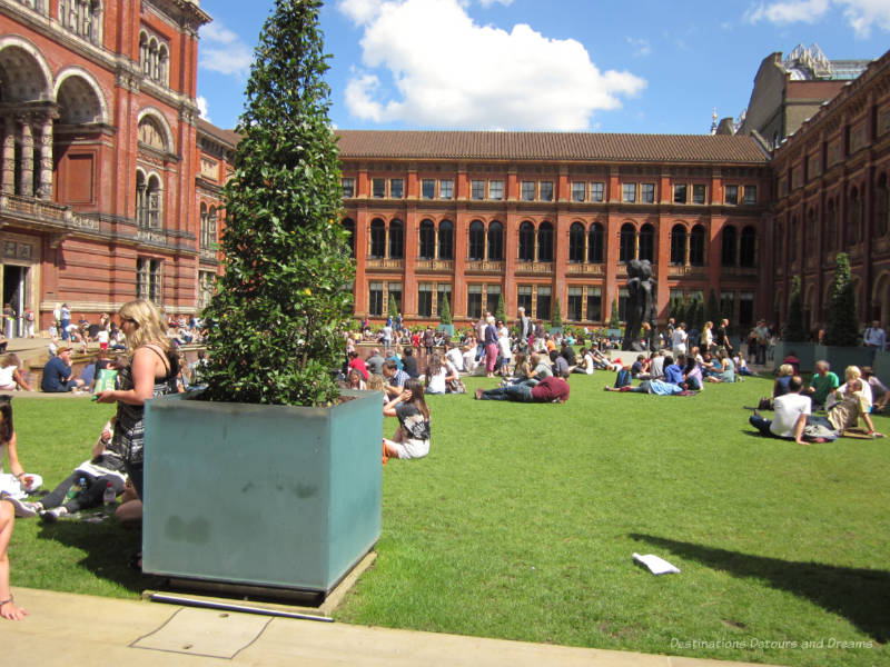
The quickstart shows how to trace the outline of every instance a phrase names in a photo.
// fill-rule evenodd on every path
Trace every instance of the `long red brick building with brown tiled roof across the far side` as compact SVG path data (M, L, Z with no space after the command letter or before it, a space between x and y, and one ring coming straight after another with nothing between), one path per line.
M357 316L494 311L600 323L625 262L650 259L659 309L720 296L734 322L771 303L768 156L751 137L342 131Z

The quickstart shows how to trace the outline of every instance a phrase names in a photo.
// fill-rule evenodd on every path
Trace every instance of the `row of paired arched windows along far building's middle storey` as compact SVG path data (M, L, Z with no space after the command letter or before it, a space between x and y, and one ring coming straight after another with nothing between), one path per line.
M350 239L355 235L355 222L344 220ZM405 225L393 219L387 225L380 218L374 218L369 228L368 257L370 259L404 259ZM468 261L502 261L504 259L504 225L497 220L482 220L469 223L467 236ZM355 255L355 242L350 240ZM722 230L722 265L753 267L756 253L756 231L746 226L738 232L732 225ZM425 219L419 226L419 259L454 259L454 223L442 220L436 225ZM525 220L520 225L518 252L520 261L551 262L554 260L554 228L551 222L541 222L537 228ZM674 225L671 229L671 265L704 266L705 229L695 225L691 230L685 225ZM620 231L619 261L632 259L655 261L655 228L645 223L639 229L630 222ZM600 222L585 229L581 222L573 222L568 229L570 263L603 263L605 261L605 229Z

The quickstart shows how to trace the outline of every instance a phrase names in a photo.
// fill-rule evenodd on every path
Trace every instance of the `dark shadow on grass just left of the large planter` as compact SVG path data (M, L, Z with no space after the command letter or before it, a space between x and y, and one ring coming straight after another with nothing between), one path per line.
M85 556L79 566L97 578L118 584L137 595L156 587L159 581L157 577L142 575L130 567L129 561L141 548L141 531L126 530L113 518L101 522L61 519L56 524L43 524L38 538L82 550Z

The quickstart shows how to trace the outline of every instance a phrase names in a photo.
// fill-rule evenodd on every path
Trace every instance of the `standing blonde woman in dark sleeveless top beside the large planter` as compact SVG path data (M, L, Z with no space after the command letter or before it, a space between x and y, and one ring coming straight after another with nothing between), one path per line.
M179 358L170 350L160 310L151 301L128 301L118 311L127 337L129 365L120 371L120 389L100 391L98 402L118 404L117 428L110 449L126 462L134 488L142 497L145 401L176 392Z

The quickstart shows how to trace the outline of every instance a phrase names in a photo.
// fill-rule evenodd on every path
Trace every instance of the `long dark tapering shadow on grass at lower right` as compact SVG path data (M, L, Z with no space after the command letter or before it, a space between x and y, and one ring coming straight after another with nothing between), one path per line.
M839 614L872 639L890 638L890 573L749 556L692 542L632 532L631 538L698 560L735 577L765 579Z

